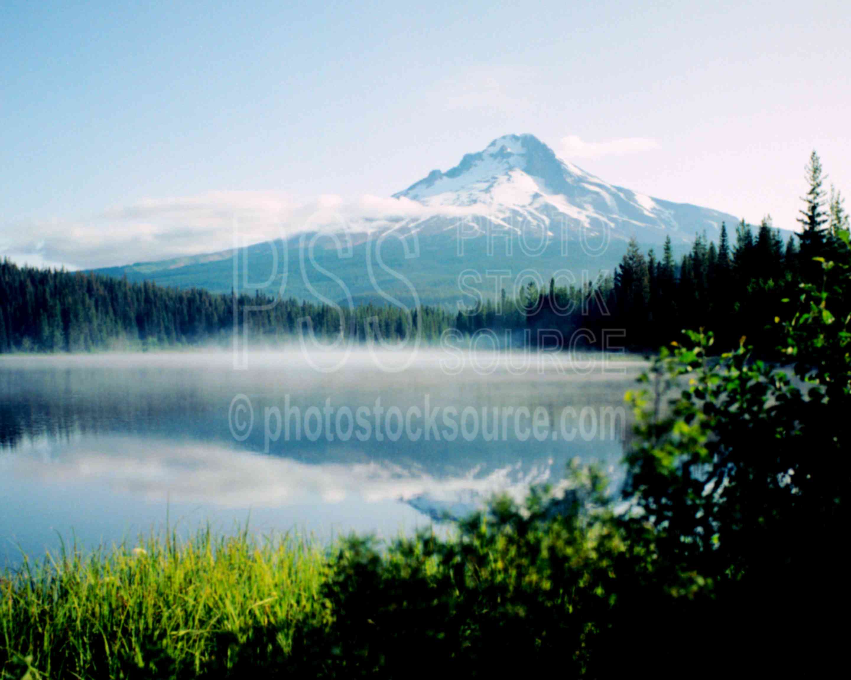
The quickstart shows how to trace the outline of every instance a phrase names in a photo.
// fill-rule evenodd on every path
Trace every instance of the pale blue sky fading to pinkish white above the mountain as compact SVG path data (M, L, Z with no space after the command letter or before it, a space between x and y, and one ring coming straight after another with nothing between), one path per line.
M0 251L214 250L230 212L390 195L525 132L613 184L791 227L811 149L851 194L849 17L838 1L3 2Z

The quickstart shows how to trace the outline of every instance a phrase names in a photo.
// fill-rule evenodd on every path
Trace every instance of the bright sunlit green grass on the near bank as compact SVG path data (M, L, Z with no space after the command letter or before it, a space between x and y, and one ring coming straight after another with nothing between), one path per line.
M327 564L311 541L209 530L25 561L0 575L0 677L225 674L240 654L286 655L295 626L323 618Z

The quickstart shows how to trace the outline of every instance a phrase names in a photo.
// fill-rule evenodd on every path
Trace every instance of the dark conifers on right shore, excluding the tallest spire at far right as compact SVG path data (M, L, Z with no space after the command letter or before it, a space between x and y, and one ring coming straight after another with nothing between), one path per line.
M512 346L580 349L654 348L676 340L683 328L704 326L717 329L719 347L729 348L743 334L758 339L767 311L780 311L778 292L793 294L804 258L813 257L802 254L799 241L800 235L782 241L770 218L756 230L742 221L732 238L722 224L717 244L700 235L679 260L670 237L660 256L643 253L633 239L614 276L585 286L530 283L517 297L460 311L454 326L471 335L494 331ZM822 241L824 249L828 240ZM514 334L506 339L504 331Z

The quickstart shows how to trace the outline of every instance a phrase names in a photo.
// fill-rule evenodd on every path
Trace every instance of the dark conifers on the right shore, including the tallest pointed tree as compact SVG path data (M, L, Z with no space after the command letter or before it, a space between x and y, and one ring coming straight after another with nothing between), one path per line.
M527 314L530 326L558 329L565 339L577 329L603 342L606 329L623 329L624 343L653 348L680 337L684 328L712 328L718 348L739 343L743 335L759 346L771 334L766 320L782 316L784 299L797 297L802 280L818 280L819 258L847 263L848 214L842 195L831 188L825 196L819 156L813 152L807 167L807 194L798 221L802 231L783 241L771 218L753 229L742 220L730 234L722 224L717 244L698 236L690 252L677 262L671 238L661 255L645 255L630 242L614 280L602 280L584 290L559 289L537 296ZM585 309L581 303L585 301ZM565 303L572 312L560 313Z

